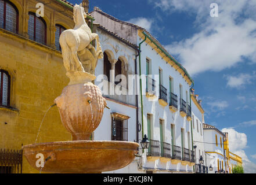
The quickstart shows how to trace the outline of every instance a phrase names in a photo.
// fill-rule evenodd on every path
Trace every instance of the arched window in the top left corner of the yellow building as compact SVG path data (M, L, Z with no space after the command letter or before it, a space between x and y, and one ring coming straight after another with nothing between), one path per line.
M0 0L0 28L19 32L19 12L9 0Z

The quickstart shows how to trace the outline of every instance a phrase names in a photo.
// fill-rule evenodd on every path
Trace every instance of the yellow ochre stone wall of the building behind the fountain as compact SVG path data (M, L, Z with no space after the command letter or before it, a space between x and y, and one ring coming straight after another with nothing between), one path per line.
M67 17L53 11L59 5L45 5L48 39L47 45L42 46L26 38L27 27L23 24L27 23L22 16L28 10L35 10L38 1L12 2L19 9L19 35L0 28L0 69L8 71L11 76L10 106L17 110L0 108L0 149L20 150L21 145L35 143L44 113L69 82L62 55L54 49L55 30L51 26L63 23L70 28L74 22L72 12L64 12L69 15ZM71 135L62 125L59 111L54 106L45 116L37 143L65 140L71 140ZM28 164L25 156L23 173L39 173Z

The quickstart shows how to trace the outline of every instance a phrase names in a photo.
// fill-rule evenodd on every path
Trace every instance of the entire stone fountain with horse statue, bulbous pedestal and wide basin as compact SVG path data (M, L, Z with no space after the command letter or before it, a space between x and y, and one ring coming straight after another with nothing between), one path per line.
M36 143L23 146L24 156L38 171L52 173L101 173L123 168L130 164L139 147L135 142L89 140L102 120L106 99L95 80L95 67L103 58L99 36L91 32L85 22L86 13L81 5L74 6L74 29L60 35L63 63L68 86L55 99L64 127L73 140L66 142ZM97 49L91 45L96 40ZM104 123L103 123L104 124ZM44 164L38 165L38 155Z

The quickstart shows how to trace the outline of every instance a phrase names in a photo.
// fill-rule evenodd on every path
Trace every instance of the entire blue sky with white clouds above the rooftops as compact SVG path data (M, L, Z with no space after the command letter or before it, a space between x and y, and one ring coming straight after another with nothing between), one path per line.
M211 3L218 17L210 16ZM246 172L256 173L256 1L93 0L89 6L151 32L194 79L205 122L228 131L231 150L243 157Z

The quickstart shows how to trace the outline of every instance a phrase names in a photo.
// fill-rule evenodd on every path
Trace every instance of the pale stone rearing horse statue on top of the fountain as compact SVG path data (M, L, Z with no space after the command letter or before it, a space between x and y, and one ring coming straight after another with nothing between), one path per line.
M90 68L86 72L94 73L96 63L99 58L103 58L102 49L99 43L98 34L92 33L85 22L86 13L81 5L74 6L74 29L66 29L60 35L60 46L62 47L62 57L64 67L67 72L85 72L85 69L78 57L79 54L89 54L91 60ZM91 45L92 40L96 39L97 50ZM89 51L89 52L88 52ZM93 56L93 57L92 57ZM86 57L85 57L86 58Z

